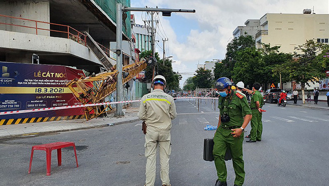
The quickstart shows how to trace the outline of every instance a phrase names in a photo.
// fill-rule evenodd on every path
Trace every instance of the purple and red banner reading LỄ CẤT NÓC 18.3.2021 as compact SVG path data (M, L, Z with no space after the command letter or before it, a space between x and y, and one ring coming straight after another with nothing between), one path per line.
M85 76L60 65L0 62L0 112L81 104L66 84ZM83 108L5 115L0 119L82 115ZM4 117L4 118L2 118Z

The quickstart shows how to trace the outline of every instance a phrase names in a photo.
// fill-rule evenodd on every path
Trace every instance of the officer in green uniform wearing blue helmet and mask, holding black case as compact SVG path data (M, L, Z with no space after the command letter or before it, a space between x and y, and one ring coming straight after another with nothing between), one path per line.
M245 177L242 152L243 131L252 115L247 99L233 91L231 86L232 82L226 77L221 77L215 82L215 88L220 94L218 99L220 116L213 147L218 176L215 186L227 186L227 171L224 162L227 148L231 151L235 171L234 186L242 186Z

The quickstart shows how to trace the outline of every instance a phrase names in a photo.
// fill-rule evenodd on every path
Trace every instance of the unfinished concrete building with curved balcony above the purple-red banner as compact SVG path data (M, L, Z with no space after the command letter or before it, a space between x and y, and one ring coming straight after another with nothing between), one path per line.
M116 55L110 42L116 40L119 2L130 6L130 0L0 0L0 61L31 63L35 53L40 64L90 73L106 68L103 57L113 66ZM130 33L128 19L123 39L130 39Z

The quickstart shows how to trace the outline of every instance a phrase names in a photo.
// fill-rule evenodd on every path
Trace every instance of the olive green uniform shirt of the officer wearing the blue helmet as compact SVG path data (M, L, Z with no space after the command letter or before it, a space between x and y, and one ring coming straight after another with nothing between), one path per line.
M251 114L247 98L235 91L231 91L225 98L220 96L218 108L220 115L226 113L230 117L229 122L221 122L221 125L226 127L241 127L244 121L243 117Z

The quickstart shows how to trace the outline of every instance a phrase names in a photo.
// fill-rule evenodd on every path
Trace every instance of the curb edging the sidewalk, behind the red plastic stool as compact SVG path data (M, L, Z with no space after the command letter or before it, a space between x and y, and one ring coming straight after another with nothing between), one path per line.
M134 118L134 117L132 117L132 118ZM61 129L61 130L52 130L52 131L44 131L44 132L33 132L33 133L0 136L0 141L6 141L6 140L14 139L14 138L30 138L30 137L34 137L34 136L44 136L46 134L57 133L57 132L67 132L67 131L77 131L77 130L83 130L83 129L108 127L108 126L114 126L114 125L134 123L137 121L140 121L140 119L131 119L131 120L120 121L120 122L115 122L115 123L100 124L100 125L93 125L93 126L86 126L86 127L76 127L76 128L72 128L72 129Z

